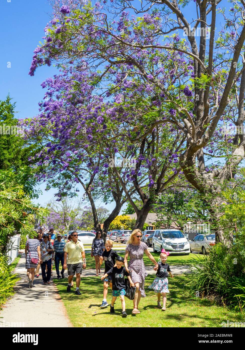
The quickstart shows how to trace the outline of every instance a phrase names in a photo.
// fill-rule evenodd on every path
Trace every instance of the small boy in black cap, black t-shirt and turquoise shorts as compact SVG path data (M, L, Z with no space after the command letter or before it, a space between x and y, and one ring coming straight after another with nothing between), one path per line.
M126 271L125 267L123 266L124 259L122 257L116 258L116 267L112 267L105 275L101 277L103 280L106 278L109 274L112 275L112 299L110 304L110 313L114 314L114 303L118 296L120 296L120 300L122 303L122 317L127 317L127 313L125 311L125 300L124 295L126 293L125 290L125 281L124 276L127 276L130 281L130 286L135 287L134 283L131 280L131 277L129 276L129 273Z

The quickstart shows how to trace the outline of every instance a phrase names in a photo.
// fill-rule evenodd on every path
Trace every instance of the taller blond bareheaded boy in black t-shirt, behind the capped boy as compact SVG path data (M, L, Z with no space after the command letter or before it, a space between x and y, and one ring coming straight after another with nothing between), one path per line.
M109 271L110 268L115 266L115 258L118 257L118 254L112 250L113 247L113 241L108 239L105 244L106 250L103 251L102 256L100 257L100 265L105 261L105 273ZM107 292L108 292L108 283L110 285L110 288L112 289L112 280L111 276L108 276L104 279L104 290L103 290L103 301L100 306L101 309L107 307L109 304L106 301Z

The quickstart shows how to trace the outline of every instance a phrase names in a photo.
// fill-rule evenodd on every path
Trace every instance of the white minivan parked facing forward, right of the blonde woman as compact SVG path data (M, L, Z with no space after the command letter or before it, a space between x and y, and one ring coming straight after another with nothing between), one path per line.
M152 236L153 252L161 252L164 248L171 254L190 254L190 245L183 233L174 229L156 230Z

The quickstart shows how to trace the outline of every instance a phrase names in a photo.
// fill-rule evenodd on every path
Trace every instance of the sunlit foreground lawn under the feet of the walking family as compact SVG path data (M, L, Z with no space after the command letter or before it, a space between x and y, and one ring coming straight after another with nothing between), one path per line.
M185 275L169 278L170 294L167 296L167 310L154 309L157 296L147 287L154 276L145 279L146 297L140 300L140 314L132 315L132 301L125 298L127 318L122 318L121 302L117 298L115 314L110 309L100 309L103 299L103 282L99 277L82 278L81 296L75 295L75 283L72 293L66 292L67 279L54 280L67 314L74 327L221 327L221 322L230 320L239 322L239 314L226 307L215 306L208 300L191 297L184 288ZM107 301L112 297L108 290Z

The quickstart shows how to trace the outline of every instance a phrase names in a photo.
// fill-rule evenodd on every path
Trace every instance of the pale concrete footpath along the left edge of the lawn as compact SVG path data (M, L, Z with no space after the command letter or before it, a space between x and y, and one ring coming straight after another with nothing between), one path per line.
M52 281L43 285L40 268L40 276L30 289L25 264L26 255L22 253L15 269L20 280L15 286L16 293L0 311L0 327L72 327L55 285Z

